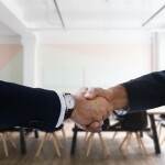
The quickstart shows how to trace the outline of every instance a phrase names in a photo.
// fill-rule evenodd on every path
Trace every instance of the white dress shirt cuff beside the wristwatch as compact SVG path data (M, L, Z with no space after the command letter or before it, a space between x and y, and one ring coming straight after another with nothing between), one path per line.
M58 122L55 128L58 128L64 122L64 116L66 111L66 103L63 94L57 94L61 100L61 114L58 118Z

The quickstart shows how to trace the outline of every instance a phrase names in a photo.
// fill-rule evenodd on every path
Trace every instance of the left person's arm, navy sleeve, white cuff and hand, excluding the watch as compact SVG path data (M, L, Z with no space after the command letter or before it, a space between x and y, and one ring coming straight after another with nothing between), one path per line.
M111 112L109 102L99 97L86 100L84 92L73 97L76 103L70 119L85 129L90 124L88 129L91 131L100 130L100 123ZM65 112L66 102L62 94L0 81L0 124L2 125L52 131L57 123L59 124L61 117L61 123L63 122Z

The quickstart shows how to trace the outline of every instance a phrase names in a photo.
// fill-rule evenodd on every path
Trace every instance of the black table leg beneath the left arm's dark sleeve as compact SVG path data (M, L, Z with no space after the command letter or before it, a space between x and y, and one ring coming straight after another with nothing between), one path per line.
M26 154L24 128L20 128L20 143L21 143L21 153L22 155L24 155Z

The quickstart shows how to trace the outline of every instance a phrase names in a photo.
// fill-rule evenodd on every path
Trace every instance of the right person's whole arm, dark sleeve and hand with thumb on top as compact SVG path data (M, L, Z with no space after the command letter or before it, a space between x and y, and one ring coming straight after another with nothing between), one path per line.
M164 106L165 72L144 75L109 89L91 88L85 95L87 99L97 96L106 98L113 110L129 106L130 111L140 111Z

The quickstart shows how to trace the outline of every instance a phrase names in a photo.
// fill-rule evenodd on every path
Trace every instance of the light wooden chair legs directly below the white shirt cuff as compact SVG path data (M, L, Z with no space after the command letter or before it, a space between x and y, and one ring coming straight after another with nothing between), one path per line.
M51 131L51 132L45 132L44 138L43 138L43 140L41 141L41 143L40 143L40 145L38 145L38 148L37 148L37 151L36 151L36 154L35 154L36 157L37 157L38 154L41 153L41 150L43 148L43 145L44 145L45 141L46 141L46 140L51 140L51 139L52 139L52 141L53 141L53 144L54 144L54 146L55 146L55 150L56 150L57 155L58 155L58 156L62 155L59 148L63 148L63 145L62 145L61 141L57 139L57 135L56 135L56 131L59 131L59 130L62 131L63 136L64 136L64 139L65 139L64 124L62 124L59 128L55 128L55 129L54 129L53 131Z

